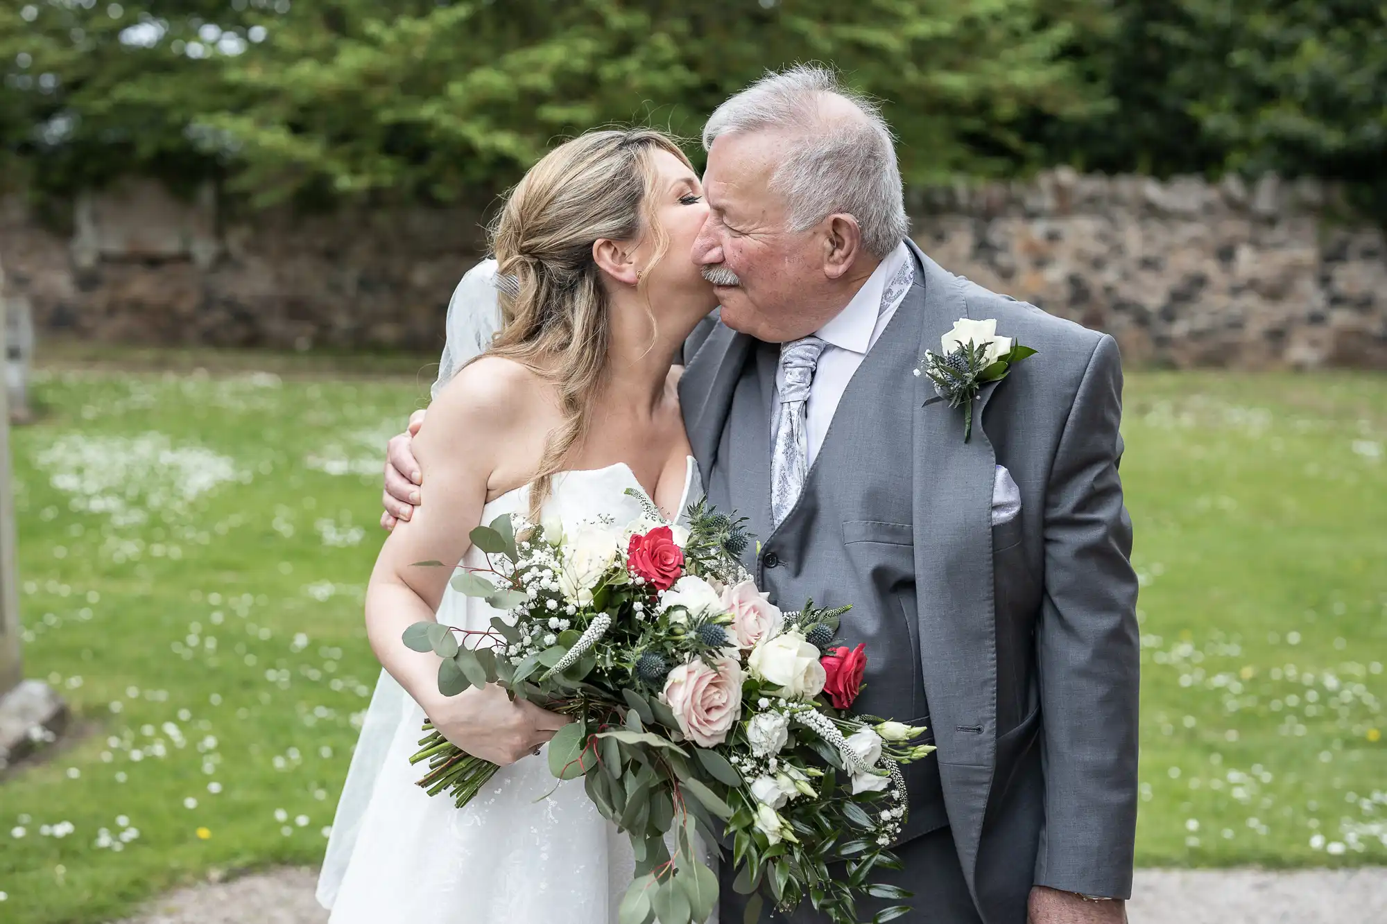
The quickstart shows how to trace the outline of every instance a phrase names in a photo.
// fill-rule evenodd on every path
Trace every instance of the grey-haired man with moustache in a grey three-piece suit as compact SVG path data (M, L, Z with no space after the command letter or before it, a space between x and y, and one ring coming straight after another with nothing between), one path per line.
M1125 920L1139 645L1117 344L925 257L889 128L828 71L768 75L703 143L692 257L721 309L685 344L685 426L709 501L761 537L757 584L854 604L854 708L932 730L938 759L907 769L903 920ZM967 409L915 372L960 319L1037 351ZM408 440L387 526L417 497ZM724 881L721 920L743 900Z

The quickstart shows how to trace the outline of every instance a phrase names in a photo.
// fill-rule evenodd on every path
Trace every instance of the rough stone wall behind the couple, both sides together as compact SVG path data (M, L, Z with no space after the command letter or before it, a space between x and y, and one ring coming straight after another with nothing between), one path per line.
M910 205L943 266L1112 333L1130 365L1387 368L1387 244L1330 218L1332 187L1061 169ZM0 200L0 261L40 336L434 351L481 243L462 209L241 219L153 182L82 197L68 234Z

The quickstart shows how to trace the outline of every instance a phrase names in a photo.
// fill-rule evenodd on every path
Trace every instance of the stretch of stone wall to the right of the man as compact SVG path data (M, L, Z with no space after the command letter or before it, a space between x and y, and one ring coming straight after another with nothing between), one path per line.
M1387 368L1387 244L1337 190L1056 171L913 197L947 269L1118 339L1132 365Z

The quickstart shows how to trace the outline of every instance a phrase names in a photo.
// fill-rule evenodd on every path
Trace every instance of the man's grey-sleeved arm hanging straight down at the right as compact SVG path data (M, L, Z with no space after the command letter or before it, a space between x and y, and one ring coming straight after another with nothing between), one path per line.
M1140 663L1121 418L1122 363L1104 334L1060 437L1044 511L1036 658L1046 827L1035 884L1117 899L1132 891ZM1117 918L1092 920L1121 920L1112 910Z

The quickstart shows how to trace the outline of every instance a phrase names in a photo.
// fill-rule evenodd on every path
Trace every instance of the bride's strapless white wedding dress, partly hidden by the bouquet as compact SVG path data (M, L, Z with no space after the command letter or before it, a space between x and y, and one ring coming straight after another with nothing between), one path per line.
M565 531L598 519L628 523L639 490L624 463L555 476L545 517ZM481 515L526 513L528 488L502 494ZM702 497L688 459L678 511ZM484 566L479 549L465 565ZM448 588L438 622L487 628L497 610ZM376 684L337 805L318 900L330 924L614 924L631 882L630 841L588 801L583 780L559 782L546 753L503 767L465 807L415 781L424 712L384 670Z

